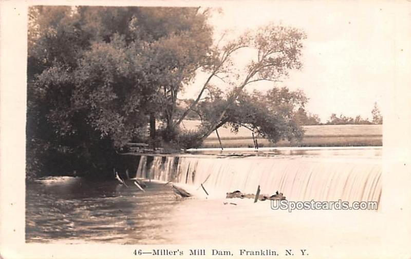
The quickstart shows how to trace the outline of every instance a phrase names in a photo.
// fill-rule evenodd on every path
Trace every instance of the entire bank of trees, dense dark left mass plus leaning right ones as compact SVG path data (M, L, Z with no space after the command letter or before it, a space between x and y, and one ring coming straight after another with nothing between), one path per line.
M234 132L246 126L273 142L300 139L295 113L307 102L304 93L277 87L250 92L247 86L282 81L300 69L304 32L269 24L216 43L210 13L30 7L28 172L110 172L116 151L129 141L190 148L222 126ZM243 50L254 57L238 69L235 56ZM199 71L208 77L182 108L179 96ZM215 78L222 84L212 84ZM182 131L179 125L193 113L201 127Z

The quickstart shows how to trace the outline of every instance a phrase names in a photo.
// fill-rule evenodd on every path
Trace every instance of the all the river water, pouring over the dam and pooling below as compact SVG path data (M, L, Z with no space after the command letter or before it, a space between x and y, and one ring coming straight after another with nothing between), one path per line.
M281 214L272 211L269 202L253 205L252 201L241 200L244 206L239 201L236 201L238 206L233 206L219 199L234 190L255 193L258 185L261 194L279 190L290 201L380 200L381 149L287 149L257 155L250 150L235 155L230 152L141 156L138 177L173 181L193 188L203 184L210 193L209 200L176 200L169 185L154 181L145 182L145 193L131 183L126 188L115 180L89 181L80 177L45 177L27 183L26 242L173 244L209 240L209 243L225 244L239 242L232 236L241 236L245 244L264 243L272 240L273 231L296 228L301 218L311 221L325 216L325 211L317 211L315 215L313 211L305 211L304 215L295 214L303 212ZM355 222L358 213L340 214L328 216L328 222L337 225L352 217L345 227L354 226L347 234L351 238L358 234L356 229L378 213L364 214L361 223ZM254 218L259 222L264 220L265 227L260 226L257 239L243 238L254 230L243 231L242 226ZM211 228L215 228L214 232ZM217 233L222 228L228 236ZM330 226L326 224L323 228L326 232Z

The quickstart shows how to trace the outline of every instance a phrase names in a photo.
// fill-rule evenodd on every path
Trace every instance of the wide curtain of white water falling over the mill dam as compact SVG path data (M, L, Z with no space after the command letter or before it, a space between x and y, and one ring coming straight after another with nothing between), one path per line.
M221 195L239 190L284 193L289 201L379 201L381 159L201 155L141 156L137 177L200 186ZM207 181L206 181L207 180Z

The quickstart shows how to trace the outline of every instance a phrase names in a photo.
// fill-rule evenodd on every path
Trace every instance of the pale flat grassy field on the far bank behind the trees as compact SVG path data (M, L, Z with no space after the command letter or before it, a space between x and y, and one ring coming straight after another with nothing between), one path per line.
M184 121L183 127L195 129L199 121ZM280 141L271 143L258 137L259 147L329 147L329 146L382 146L382 125L320 125L304 126L301 142ZM237 134L229 128L218 129L223 147L254 147L251 131L240 128ZM203 143L204 148L220 147L215 132Z

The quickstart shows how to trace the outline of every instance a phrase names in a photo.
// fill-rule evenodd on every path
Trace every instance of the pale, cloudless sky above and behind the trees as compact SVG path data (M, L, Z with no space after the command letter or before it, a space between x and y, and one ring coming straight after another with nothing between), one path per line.
M331 113L372 120L373 104L377 102L383 111L384 91L394 82L392 15L383 3L238 2L221 6L221 12L213 12L209 23L214 27L215 38L227 30L227 37L235 37L269 23L304 30L307 39L303 42L302 70L291 71L275 86L303 90L309 97L306 110L318 114L322 122ZM236 64L249 58L237 56ZM196 96L205 78L206 74L199 73L194 87L182 97ZM213 83L221 85L218 81ZM272 84L254 83L249 90L265 91Z

